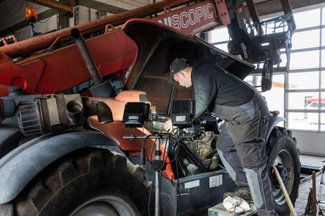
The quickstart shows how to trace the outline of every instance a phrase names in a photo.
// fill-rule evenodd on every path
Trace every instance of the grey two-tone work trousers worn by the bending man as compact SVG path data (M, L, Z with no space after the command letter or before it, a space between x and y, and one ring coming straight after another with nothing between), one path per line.
M221 161L237 186L249 187L258 215L277 216L265 154L270 112L260 93L242 106L216 106L225 120L216 144Z

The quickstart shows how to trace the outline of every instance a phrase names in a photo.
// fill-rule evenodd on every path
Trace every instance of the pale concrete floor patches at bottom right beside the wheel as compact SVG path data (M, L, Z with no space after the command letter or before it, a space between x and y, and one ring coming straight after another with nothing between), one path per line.
M301 164L323 166L323 165L325 165L325 163L321 162L322 159L325 159L325 157L316 157L316 156L305 155L305 154L300 155ZM320 175L316 176L317 199L318 199L320 179L321 179ZM299 195L296 200L295 207L294 207L298 216L304 215L304 211L306 209L307 199L308 199L308 195L309 195L309 188L312 188L312 179L309 179L309 180L305 181L304 183L301 183L299 186ZM323 200L325 202L325 188L323 188L321 200ZM321 208L321 209L325 213L325 208Z

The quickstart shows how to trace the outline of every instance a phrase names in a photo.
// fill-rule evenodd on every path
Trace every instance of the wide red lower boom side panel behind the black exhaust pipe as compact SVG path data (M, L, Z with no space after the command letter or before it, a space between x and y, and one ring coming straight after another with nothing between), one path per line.
M122 30L91 38L87 45L102 76L128 69L136 57L136 45ZM2 85L37 93L60 93L90 79L76 45L1 64L0 77Z

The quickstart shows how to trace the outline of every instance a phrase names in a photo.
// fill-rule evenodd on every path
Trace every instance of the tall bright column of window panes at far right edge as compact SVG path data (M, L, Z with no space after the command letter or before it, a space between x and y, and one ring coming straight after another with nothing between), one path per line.
M321 7L294 13L297 31L285 89L290 129L325 131L324 11Z

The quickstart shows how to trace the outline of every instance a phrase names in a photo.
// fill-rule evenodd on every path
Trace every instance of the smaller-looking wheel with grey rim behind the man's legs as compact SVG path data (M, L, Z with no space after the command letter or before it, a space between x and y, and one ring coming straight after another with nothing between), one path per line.
M267 152L268 171L275 200L275 210L279 216L288 216L290 215L290 209L272 170L272 165L275 165L280 172L287 193L294 205L298 197L300 160L296 140L292 137L291 131L283 127L275 127L268 140Z

